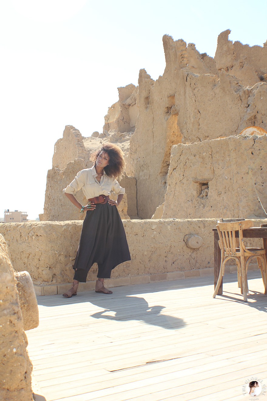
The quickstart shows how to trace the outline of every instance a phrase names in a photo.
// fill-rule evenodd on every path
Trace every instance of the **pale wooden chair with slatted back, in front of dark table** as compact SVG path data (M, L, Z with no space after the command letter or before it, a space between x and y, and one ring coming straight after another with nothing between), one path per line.
M267 261L265 249L246 248L243 242L243 229L251 227L253 227L251 220L240 220L232 223L220 223L218 221L216 228L219 234L219 247L221 249L221 268L213 298L218 294L221 280L225 273L225 263L229 259L234 259L237 263L238 282L241 287L241 294L243 292L244 301L247 301L248 292L247 268L253 258L257 258L266 292ZM239 238L235 237L235 231L239 231Z

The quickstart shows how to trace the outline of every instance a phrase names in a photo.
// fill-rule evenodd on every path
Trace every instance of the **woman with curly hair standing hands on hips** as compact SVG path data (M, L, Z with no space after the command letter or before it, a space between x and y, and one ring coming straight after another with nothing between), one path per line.
M82 225L80 243L73 269L73 284L63 296L77 295L79 282L86 282L93 263L98 264L96 292L112 294L104 287L104 279L110 278L111 270L118 264L130 260L130 252L117 207L125 193L115 178L124 171L123 153L114 144L104 144L92 154L92 168L79 171L74 180L63 190L67 198L81 213L86 212ZM74 193L82 188L88 204L82 206ZM111 191L117 201L109 198Z

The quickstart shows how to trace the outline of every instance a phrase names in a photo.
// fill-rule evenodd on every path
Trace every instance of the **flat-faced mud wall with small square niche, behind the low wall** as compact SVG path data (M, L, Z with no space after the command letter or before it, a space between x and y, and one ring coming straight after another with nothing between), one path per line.
M162 217L265 218L266 156L266 135L173 146Z

